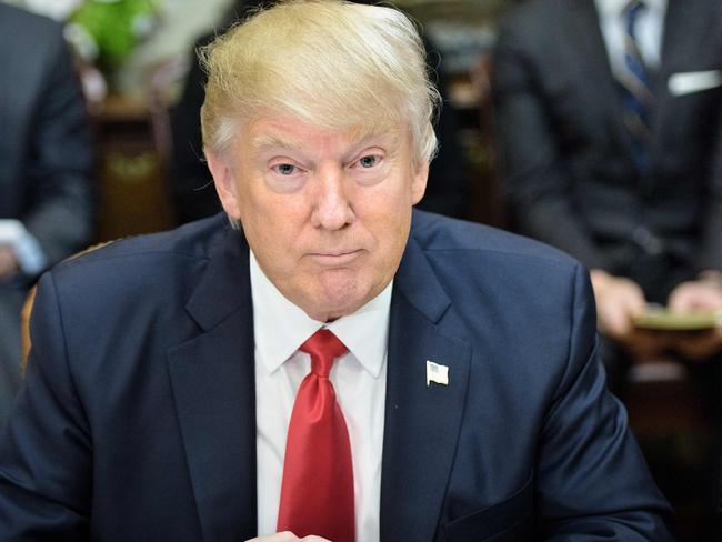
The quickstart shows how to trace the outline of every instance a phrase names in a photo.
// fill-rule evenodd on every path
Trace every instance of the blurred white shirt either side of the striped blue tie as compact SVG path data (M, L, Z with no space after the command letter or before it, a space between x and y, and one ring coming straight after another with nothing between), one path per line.
M629 0L594 0L610 63L614 72L624 70L624 8ZM655 70L662 56L666 0L644 0L646 8L636 19L635 37L644 63Z

